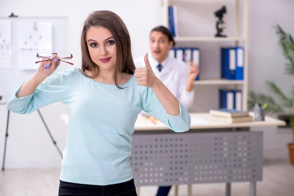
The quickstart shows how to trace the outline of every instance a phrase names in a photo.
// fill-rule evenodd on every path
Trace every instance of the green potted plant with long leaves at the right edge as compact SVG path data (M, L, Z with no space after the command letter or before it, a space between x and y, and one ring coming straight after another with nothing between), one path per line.
M294 76L293 38L290 34L285 33L285 31L279 25L275 25L274 27L276 34L279 36L279 45L283 51L283 55L288 61L286 63L285 74L291 74ZM292 127L292 143L287 144L287 146L289 148L290 162L294 165L294 86L291 95L287 97L274 82L266 81L266 84L270 88L270 91L279 98L279 103L277 103L269 95L250 91L248 98L248 109L253 109L254 104L257 102L261 105L267 104L267 107L265 108L265 112L267 113L277 113L284 112L286 109L288 110Z

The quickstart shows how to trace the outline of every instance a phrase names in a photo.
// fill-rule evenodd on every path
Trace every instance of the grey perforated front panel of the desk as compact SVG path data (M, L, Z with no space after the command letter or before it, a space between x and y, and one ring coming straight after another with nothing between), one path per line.
M136 186L262 180L262 132L134 134Z

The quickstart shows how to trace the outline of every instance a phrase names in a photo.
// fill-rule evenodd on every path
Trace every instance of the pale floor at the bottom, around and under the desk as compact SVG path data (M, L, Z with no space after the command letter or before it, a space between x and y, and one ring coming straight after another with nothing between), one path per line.
M0 196L57 196L59 169L24 169L0 172ZM294 196L294 166L287 161L264 163L263 181L257 183L257 196ZM157 187L141 187L141 196L155 196ZM225 184L197 184L193 196L224 196ZM173 196L173 188L169 196ZM179 196L187 186L179 186ZM249 183L233 183L232 196L249 196Z

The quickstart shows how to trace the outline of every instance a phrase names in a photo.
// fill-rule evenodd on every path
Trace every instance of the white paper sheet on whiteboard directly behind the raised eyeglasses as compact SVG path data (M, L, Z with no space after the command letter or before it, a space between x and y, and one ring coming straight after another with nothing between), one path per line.
M52 24L50 22L18 23L19 68L36 70L42 60L36 57L38 52L52 52Z

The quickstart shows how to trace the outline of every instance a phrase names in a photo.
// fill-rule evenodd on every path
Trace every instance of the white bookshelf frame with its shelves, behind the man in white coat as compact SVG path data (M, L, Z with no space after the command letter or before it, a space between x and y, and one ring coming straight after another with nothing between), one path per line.
M164 14L164 25L169 26L169 5L181 3L181 2L201 2L205 3L205 0L161 0L160 5L163 8ZM240 32L240 2L243 2L243 32L241 35ZM221 2L221 0L217 0L217 2ZM223 4L226 4L228 1L223 1ZM234 29L234 36L228 37L203 37L203 36L176 36L174 37L175 42L177 43L185 43L185 42L232 42L231 46L242 46L244 48L244 79L243 80L227 80L227 79L200 79L194 82L195 86L198 85L234 85L234 87L239 87L239 89L243 92L242 97L242 107L243 110L247 110L247 95L248 95L248 49L247 49L247 31L248 31L248 0L232 0L235 4L235 29ZM207 2L208 3L208 2ZM242 45L240 44L242 42ZM200 57L201 58L201 57ZM201 64L201 66L203 66ZM204 65L205 66L205 65Z

